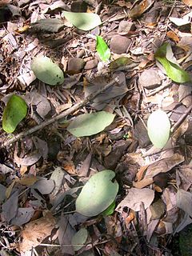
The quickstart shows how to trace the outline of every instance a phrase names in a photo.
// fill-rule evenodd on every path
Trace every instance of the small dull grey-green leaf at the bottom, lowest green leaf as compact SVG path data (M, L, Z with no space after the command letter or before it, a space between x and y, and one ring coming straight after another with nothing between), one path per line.
M88 232L85 228L78 230L78 232L74 234L71 240L71 244L74 247L74 251L80 250L85 245L87 237Z

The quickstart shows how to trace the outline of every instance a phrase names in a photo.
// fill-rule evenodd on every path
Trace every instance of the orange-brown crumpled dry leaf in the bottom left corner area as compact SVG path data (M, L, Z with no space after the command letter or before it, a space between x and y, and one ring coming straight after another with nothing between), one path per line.
M38 246L43 239L51 234L54 226L55 220L50 212L47 212L44 217L26 224L22 230L22 242L19 244L20 252L25 253L32 247Z

